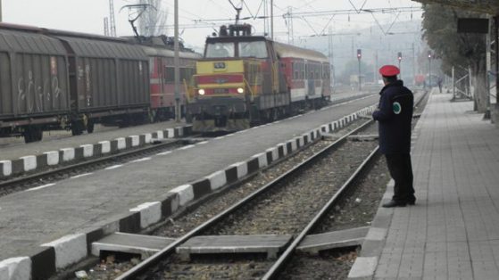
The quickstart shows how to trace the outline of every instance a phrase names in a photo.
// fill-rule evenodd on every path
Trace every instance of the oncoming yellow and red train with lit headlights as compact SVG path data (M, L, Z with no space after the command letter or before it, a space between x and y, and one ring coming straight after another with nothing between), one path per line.
M329 60L312 50L222 27L196 62L187 115L193 130L235 131L329 100Z

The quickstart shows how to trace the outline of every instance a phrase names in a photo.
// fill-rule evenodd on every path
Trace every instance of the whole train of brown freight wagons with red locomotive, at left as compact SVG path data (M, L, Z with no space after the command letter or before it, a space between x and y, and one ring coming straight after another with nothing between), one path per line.
M198 56L181 53L184 76ZM161 42L0 23L0 136L24 136L29 143L49 129L79 135L96 123L167 118L172 57Z

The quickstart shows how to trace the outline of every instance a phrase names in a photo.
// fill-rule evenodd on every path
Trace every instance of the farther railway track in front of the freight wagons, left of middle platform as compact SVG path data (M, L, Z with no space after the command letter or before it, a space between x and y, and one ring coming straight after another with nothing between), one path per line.
M0 181L0 197L31 188L41 188L44 185L49 185L65 178L77 177L98 169L109 168L129 161L136 161L160 152L175 150L181 146L197 142L195 139L195 136L189 136L187 138L160 142L158 144L150 144L127 152L115 153L93 160L80 161L71 165L61 165L53 169L42 170L35 174Z

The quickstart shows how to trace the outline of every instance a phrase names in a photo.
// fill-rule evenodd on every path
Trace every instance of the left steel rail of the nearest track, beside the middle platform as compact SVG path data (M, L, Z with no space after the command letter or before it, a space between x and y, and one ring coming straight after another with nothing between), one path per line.
M295 165L295 167L288 170L286 173L282 174L281 176L275 178L270 183L263 185L260 189L256 190L254 193L246 196L243 200L236 202L235 204L230 206L228 209L221 211L218 215L205 221L202 225L195 227L194 229L189 231L186 235L179 237L176 241L174 241L173 243L170 243L167 247L163 248L161 251L154 253L154 255L145 259L144 261L139 263L136 267L131 268L129 271L127 271L123 275L116 278L116 280L128 280L128 279L137 278L140 274L145 273L148 268L153 267L158 262L160 262L162 259L169 257L170 254L172 254L174 252L175 248L177 248L180 244L185 243L188 239L194 237L195 235L202 233L205 229L214 225L220 219L226 218L229 214L240 209L242 206L245 205L245 203L254 200L254 198L256 198L258 195L266 192L271 187L278 185L280 182L286 180L288 177L293 176L295 173L299 172L301 169L303 169L305 166L311 164L313 161L320 159L320 157L323 156L326 152L334 151L340 144L343 144L347 141L348 136L351 136L357 132L362 131L362 129L368 127L372 122L373 122L372 119L370 119L370 120L366 121L364 124L362 124L361 127L355 128L352 131L350 131L349 133L347 133L345 136L340 137L334 143L329 144L327 147L324 147L322 150L320 150L320 152L317 152L314 155L312 155L312 157L308 158L307 160L301 162L298 165Z

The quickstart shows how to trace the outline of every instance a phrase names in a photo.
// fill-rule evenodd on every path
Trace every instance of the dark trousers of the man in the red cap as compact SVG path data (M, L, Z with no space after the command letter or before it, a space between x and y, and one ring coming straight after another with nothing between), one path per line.
M391 153L385 154L385 157L390 176L395 181L392 199L395 202L409 202L414 198L411 154Z

